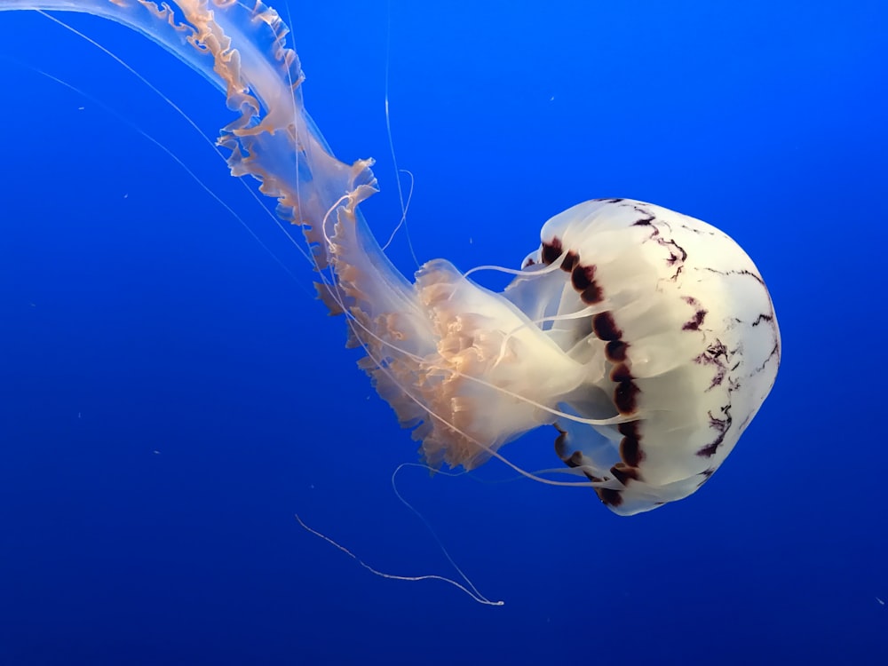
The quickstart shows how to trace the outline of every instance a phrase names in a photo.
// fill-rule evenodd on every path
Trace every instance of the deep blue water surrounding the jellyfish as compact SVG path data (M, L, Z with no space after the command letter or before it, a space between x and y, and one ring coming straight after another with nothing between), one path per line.
M0 664L884 664L884 3L305 5L279 7L306 105L377 157L378 235L387 63L420 260L517 266L599 196L705 219L771 289L773 393L705 488L632 518L496 464L400 472L503 607L372 575L294 514L386 572L455 572L305 260L133 75L0 13ZM154 44L63 18L210 137L230 120ZM504 450L538 469L551 443Z

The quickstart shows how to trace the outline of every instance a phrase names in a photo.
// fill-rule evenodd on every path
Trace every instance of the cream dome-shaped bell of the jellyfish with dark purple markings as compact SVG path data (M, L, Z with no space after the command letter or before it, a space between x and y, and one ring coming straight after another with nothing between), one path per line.
M588 319L569 320L568 353L601 369L565 402L576 414L625 417L591 428L559 419L559 457L617 513L691 495L777 374L780 330L757 267L714 226L630 200L581 203L542 237L532 259L560 261L569 275L559 308L586 305Z

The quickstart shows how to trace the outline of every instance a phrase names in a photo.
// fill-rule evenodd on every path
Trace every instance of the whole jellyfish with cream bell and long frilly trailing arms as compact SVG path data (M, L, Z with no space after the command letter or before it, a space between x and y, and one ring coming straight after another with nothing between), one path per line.
M0 0L88 12L161 44L223 91L218 144L301 228L319 297L433 469L472 470L540 426L561 470L621 515L693 494L770 392L772 299L727 234L651 203L595 199L549 219L501 292L446 260L410 281L359 209L372 160L339 161L305 110L274 9L251 0ZM504 270L504 269L503 269ZM531 472L529 477L543 480Z

